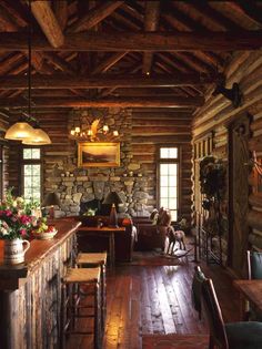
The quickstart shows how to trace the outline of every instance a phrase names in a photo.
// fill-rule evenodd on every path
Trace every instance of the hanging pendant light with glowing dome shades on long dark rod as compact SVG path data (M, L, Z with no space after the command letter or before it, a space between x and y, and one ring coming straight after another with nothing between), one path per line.
M51 140L49 135L39 126L39 123L31 116L31 74L32 74L32 43L31 43L31 0L29 1L29 35L28 35L28 116L21 116L21 119L10 126L4 135L4 138L12 141L22 141L22 144L28 145L44 145L50 144ZM32 121L37 124L32 127L28 122Z

